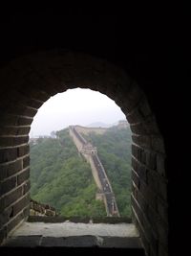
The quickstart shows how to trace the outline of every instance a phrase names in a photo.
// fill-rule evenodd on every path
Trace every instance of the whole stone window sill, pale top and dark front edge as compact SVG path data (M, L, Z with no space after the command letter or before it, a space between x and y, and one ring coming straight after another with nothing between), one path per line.
M2 247L128 249L144 255L133 223L23 222Z

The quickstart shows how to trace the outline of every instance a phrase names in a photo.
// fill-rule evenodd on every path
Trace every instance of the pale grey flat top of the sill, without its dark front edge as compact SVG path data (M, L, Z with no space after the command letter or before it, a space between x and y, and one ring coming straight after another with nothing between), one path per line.
M44 217L46 219L49 217ZM94 235L100 237L139 237L138 230L133 223L83 223L61 222L24 222L16 229L12 236L43 235L44 237L70 237Z

